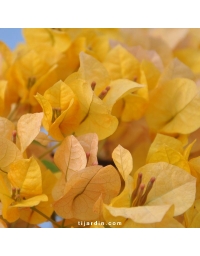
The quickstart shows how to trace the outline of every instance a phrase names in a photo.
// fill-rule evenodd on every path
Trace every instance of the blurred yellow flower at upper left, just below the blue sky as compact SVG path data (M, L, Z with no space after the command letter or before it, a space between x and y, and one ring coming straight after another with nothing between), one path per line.
M8 76L8 91L13 94L13 101L16 102L16 99L20 97L21 103L30 103L29 99L32 99L35 90L43 93L53 85L57 80L55 74L54 77L51 76L50 80L47 78L55 67L46 62L35 50L22 48L11 66ZM37 102L33 102L32 99L31 103L35 105Z

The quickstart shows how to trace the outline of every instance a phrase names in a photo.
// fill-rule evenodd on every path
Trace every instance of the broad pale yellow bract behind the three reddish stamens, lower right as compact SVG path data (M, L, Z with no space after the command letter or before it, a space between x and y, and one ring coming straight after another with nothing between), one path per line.
M155 177L146 205L174 205L174 216L184 213L194 202L196 179L183 169L164 162L150 163L141 167L134 175L144 174L144 184ZM136 179L135 179L136 182ZM184 197L184 200L179 200Z

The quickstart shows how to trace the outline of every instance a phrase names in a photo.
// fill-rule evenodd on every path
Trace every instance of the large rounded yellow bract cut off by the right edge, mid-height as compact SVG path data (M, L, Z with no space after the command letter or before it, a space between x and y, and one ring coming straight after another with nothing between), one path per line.
M153 132L188 134L200 127L200 95L189 79L170 80L152 92L146 119Z

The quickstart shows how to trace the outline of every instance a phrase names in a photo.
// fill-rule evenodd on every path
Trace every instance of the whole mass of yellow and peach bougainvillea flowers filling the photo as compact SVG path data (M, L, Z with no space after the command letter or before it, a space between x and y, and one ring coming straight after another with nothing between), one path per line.
M200 30L23 35L0 42L0 227L200 227Z

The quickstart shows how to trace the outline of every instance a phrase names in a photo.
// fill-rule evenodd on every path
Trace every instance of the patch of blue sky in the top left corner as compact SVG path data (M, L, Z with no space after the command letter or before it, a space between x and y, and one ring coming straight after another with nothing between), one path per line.
M0 28L0 41L5 42L11 50L16 45L23 42L22 29L21 28Z

